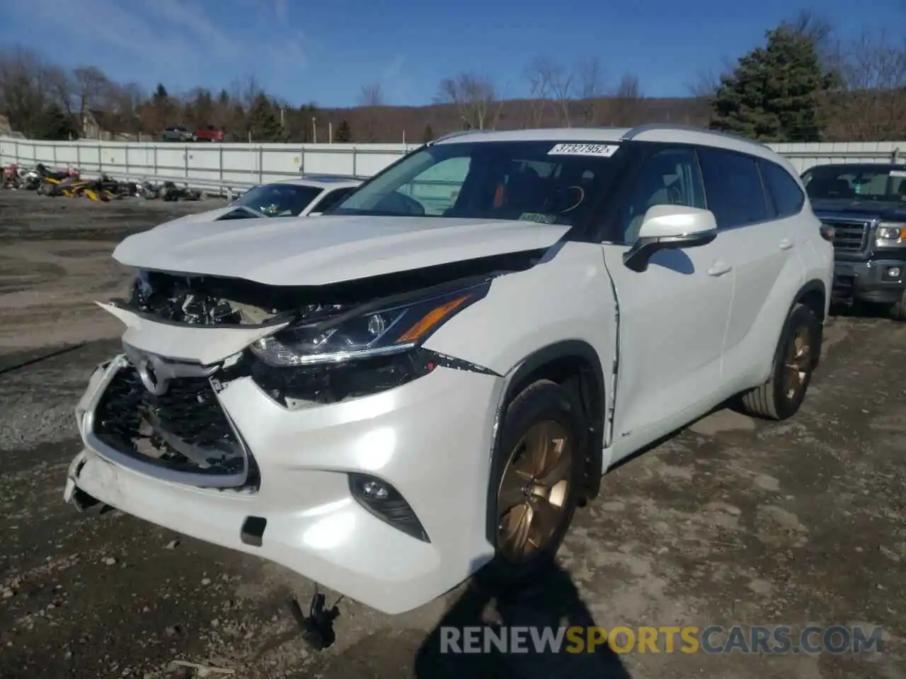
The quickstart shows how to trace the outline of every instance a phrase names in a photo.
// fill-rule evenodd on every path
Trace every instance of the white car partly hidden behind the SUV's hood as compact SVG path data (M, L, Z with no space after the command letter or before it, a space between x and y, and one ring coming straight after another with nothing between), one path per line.
M360 179L332 175L312 175L259 184L226 207L182 216L168 224L321 215L360 185Z

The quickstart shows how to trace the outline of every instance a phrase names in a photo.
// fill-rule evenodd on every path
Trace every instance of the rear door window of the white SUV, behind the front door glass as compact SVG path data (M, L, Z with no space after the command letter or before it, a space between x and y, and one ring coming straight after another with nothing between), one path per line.
M708 209L718 228L730 229L770 218L757 160L717 148L699 149Z

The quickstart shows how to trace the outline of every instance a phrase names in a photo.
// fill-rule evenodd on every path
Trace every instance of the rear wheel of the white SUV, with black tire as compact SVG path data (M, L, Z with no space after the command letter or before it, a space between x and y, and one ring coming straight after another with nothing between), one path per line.
M799 406L805 399L805 392L812 381L812 373L821 357L822 331L821 323L814 315L814 311L804 304L796 304L786 317L784 328L780 332L780 339L774 353L774 365L771 368L771 377L765 384L752 389L741 398L742 410L751 416L769 420L786 420L798 412ZM797 336L805 337L808 341L809 353L807 359L802 359L798 370L788 367L787 360L790 356L791 344L795 347ZM798 378L791 378L793 373Z

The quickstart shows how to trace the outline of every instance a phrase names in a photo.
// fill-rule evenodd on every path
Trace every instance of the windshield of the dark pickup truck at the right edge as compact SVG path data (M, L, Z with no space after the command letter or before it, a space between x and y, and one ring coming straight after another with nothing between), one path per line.
M827 165L802 177L812 200L906 201L906 169L889 166Z

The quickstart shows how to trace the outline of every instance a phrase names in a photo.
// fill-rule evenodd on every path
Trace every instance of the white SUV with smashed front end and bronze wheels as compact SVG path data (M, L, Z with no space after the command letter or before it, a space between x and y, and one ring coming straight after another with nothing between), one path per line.
M796 412L832 238L786 160L675 126L456 134L318 219L131 235L65 497L387 613L530 578L628 454Z

